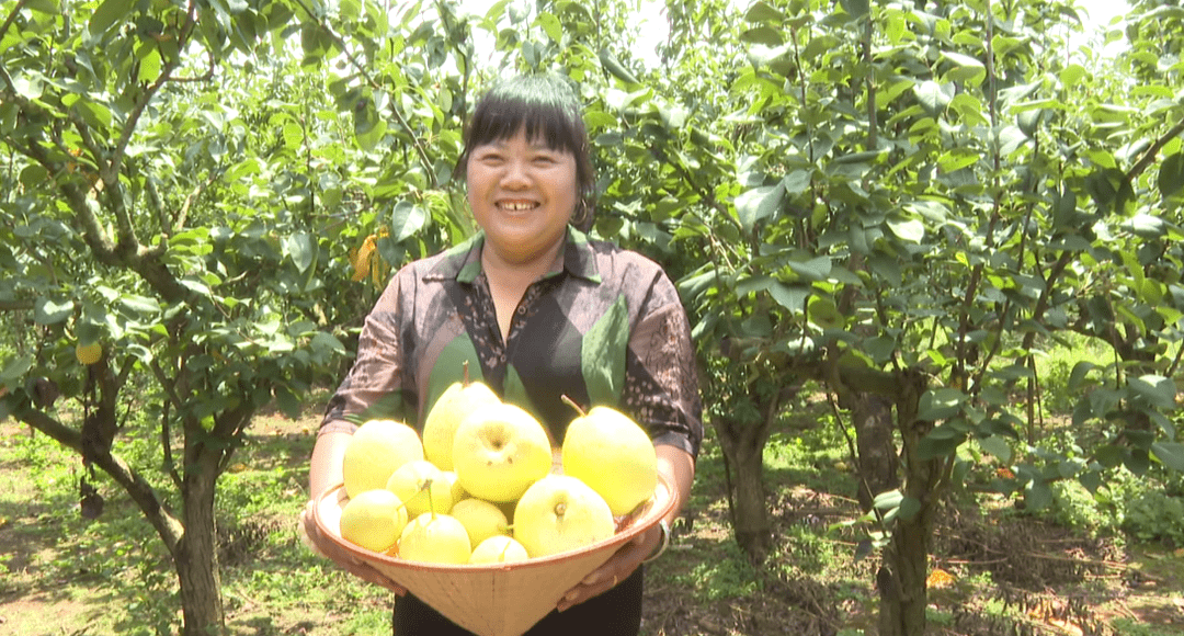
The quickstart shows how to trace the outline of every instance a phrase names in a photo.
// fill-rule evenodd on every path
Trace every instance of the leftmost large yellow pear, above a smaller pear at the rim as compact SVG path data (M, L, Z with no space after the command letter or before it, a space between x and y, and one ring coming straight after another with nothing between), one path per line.
M416 429L393 419L371 419L354 431L346 447L341 471L346 494L386 488L400 465L424 458Z

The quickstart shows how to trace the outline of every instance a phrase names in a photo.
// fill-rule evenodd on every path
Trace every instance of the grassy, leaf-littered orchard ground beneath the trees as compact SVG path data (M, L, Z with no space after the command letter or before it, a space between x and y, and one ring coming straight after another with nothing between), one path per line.
M320 404L323 404L321 401ZM755 567L727 523L710 435L688 514L648 576L646 636L874 634L875 554L856 558L845 443L824 403L790 417L766 452L776 546ZM390 634L390 595L309 554L295 519L318 405L259 416L220 482L223 597L233 636ZM144 433L143 437L150 437ZM150 465L150 447L122 449ZM139 454L139 455L137 455ZM0 423L0 635L157 635L179 623L175 577L139 510L103 475L97 520L79 514L81 461ZM1184 551L1018 513L1010 500L948 507L933 546L933 634L1184 634ZM836 529L837 528L837 529Z

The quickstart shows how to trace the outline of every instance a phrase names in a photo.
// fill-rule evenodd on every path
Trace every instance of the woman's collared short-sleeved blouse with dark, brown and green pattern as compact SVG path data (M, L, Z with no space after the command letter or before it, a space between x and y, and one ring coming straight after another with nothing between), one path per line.
M648 258L568 227L551 274L522 297L502 340L481 268L483 235L395 274L366 317L358 359L329 400L321 432L382 417L423 430L463 377L532 412L558 447L575 411L609 405L655 444L697 456L702 405L687 314Z

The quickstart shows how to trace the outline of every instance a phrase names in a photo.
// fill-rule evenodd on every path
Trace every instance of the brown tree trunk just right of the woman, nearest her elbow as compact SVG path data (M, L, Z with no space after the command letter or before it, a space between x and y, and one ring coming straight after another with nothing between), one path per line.
M753 563L768 553L771 522L765 501L765 441L768 424L716 419L715 431L723 450L728 480L728 505L736 542Z

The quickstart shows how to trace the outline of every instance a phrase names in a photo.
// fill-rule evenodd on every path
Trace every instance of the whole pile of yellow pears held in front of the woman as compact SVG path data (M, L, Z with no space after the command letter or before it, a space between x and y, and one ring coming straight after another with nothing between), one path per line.
M575 413L559 449L528 411L481 381L450 385L424 420L372 419L343 457L341 537L435 564L548 557L612 537L654 496L654 444L609 406Z

